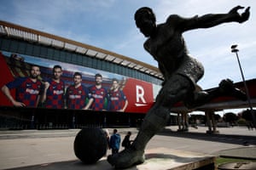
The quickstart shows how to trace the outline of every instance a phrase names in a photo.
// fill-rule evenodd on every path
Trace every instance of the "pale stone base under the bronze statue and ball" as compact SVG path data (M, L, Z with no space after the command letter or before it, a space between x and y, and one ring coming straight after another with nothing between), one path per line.
M126 168L125 170L214 170L215 156L207 156L200 153L188 152L183 150L172 150L168 148L155 148L145 150L146 161L134 167ZM98 169L98 170L113 170L114 168L108 163L107 157L95 164L84 164L82 161L61 161L37 165L31 167L20 167L18 169L36 170L36 169Z

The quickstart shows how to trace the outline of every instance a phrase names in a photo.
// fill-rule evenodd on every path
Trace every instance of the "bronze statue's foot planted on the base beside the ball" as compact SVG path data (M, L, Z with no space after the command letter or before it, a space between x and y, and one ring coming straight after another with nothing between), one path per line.
M141 164L144 161L144 150L135 150L133 148L125 149L118 154L108 156L108 162L116 169L131 167Z

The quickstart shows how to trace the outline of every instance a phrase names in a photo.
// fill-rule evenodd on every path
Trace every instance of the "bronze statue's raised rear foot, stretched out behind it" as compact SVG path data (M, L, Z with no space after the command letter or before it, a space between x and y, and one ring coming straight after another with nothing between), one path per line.
M224 79L219 84L218 87L221 93L236 97L243 101L247 100L247 95L238 88L234 87L234 83L230 79Z

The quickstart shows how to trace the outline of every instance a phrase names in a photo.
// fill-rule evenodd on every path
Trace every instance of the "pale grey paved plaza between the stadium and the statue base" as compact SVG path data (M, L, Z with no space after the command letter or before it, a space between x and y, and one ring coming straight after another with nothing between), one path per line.
M108 130L112 132L113 128ZM132 133L131 139L137 134L136 128L118 130L122 139L128 131ZM177 132L176 126L166 127L150 140L146 152L166 148L169 152L175 150L206 156L256 159L256 130L218 127L218 131L218 134L207 134L207 127L189 127L189 132ZM0 168L45 166L52 162L63 162L63 166L64 162L69 161L79 164L73 152L73 141L78 132L79 129L0 131ZM107 161L104 163L104 166L111 167ZM83 167L81 164L79 166Z

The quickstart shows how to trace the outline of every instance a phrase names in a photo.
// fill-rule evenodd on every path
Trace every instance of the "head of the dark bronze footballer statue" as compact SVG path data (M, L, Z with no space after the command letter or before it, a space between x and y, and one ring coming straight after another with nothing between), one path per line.
M151 8L143 7L137 9L134 14L134 20L136 21L136 26L145 35L145 37L149 37L154 31L156 20Z

